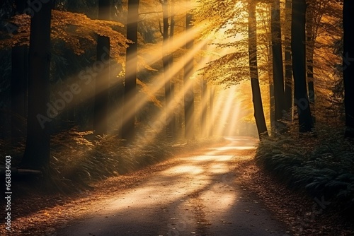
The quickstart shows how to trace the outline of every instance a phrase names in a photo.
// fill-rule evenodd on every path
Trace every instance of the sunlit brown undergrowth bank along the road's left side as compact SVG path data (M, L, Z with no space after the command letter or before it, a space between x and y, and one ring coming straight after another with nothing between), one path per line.
M43 190L62 194L84 191L91 189L94 182L102 179L124 175L178 153L222 140L212 138L176 145L176 141L156 135L154 141L138 140L137 143L125 146L118 136L94 136L92 131L71 129L52 135L48 172L40 177L25 179L23 184L20 181L17 185L23 194ZM23 149L24 145L16 150L13 167L20 163Z

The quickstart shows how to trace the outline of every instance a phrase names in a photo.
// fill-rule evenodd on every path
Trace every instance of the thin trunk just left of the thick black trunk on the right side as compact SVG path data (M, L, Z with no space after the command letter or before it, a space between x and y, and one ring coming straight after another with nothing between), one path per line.
M291 59L291 8L292 0L285 1L285 104L287 120L292 120L292 59ZM291 26L291 25L290 25Z

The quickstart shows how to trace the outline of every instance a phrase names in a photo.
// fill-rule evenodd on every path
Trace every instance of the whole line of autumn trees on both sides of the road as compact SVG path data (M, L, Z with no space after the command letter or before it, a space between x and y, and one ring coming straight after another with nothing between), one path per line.
M344 135L353 138L351 11L348 0L4 1L1 57L11 59L11 70L1 70L3 75L11 71L11 78L4 76L1 83L9 82L13 143L25 133L21 165L47 168L50 135L57 129L53 126L62 125L58 120L89 123L86 129L104 135L112 129L110 120L120 119L121 138L126 145L135 143L139 121L152 119L153 112L144 110L161 107L159 89L150 93L145 84L158 59L164 71L156 86L164 90L164 112L159 114L166 137L175 138L179 125L185 138L195 138L196 119L202 136L211 135L212 84L250 81L260 138L286 132L294 120L300 133L315 133L316 121L327 119L324 111L330 110L343 110ZM220 31L228 40L213 42L210 35ZM141 56L148 50L145 45L159 40L161 48L154 49L161 57L146 61ZM195 82L190 79L198 64L194 51L207 52L207 44L229 52L197 72L202 80L196 117ZM264 83L269 87L269 112L263 106ZM176 99L183 100L178 115L173 111ZM117 111L118 116L110 118ZM270 127L265 112L270 113ZM25 132L19 129L23 120Z

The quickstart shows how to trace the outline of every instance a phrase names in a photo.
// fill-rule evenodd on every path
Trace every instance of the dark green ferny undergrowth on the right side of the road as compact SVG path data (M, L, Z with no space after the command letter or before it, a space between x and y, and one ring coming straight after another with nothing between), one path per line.
M326 199L333 208L353 216L353 144L343 138L343 130L316 130L316 136L288 132L265 138L256 162L288 187Z

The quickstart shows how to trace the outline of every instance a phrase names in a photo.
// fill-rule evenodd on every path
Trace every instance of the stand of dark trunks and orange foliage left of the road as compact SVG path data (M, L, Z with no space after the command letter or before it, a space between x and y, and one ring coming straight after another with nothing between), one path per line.
M193 25L190 2L186 1L177 11L175 4L174 1L141 3L139 0L38 0L2 4L1 50L8 52L9 46L11 50L9 93L13 145L25 136L21 167L39 170L48 167L50 136L64 121L80 125L89 119L85 129L94 130L96 136L111 133L110 113L116 112L113 103L118 104L115 110L120 113L120 122L117 122L120 137L126 145L135 144L139 132L136 126L139 119L144 119L139 112L144 112L144 106L148 106L147 102L139 103L139 100L149 96L147 100L155 107L160 106L156 95L149 93L147 81L142 80L144 74L154 69L139 57L138 51L144 43L159 39L159 33L163 39L162 50L166 49L161 58L165 73L166 120L159 129L162 128L169 138L175 138L178 123L185 129L185 138L195 138L193 85L188 88L186 85L194 72L193 56L185 61L181 70L185 83L181 83L182 90L188 90L183 96L183 107L180 107L184 116L176 122L176 112L173 112L176 107L173 105L176 93L173 78L176 76L171 73L173 51L177 49L171 49L171 42L175 31L188 32ZM151 6L161 6L162 14L150 11ZM152 20L158 18L159 29L154 29L156 22L148 25L149 19L144 20L145 16L153 16ZM177 24L175 18L178 18ZM179 26L178 30L175 25ZM93 50L91 45L95 44L96 50ZM193 37L179 47L186 52L193 49ZM78 68L81 69L79 73ZM118 77L120 80L117 81ZM203 85L206 94L206 83ZM146 95L140 95L139 91ZM88 98L90 96L93 98ZM208 97L203 101L206 99L213 100ZM205 112L203 125L206 124ZM153 124L151 126L154 128ZM21 130L22 127L25 131Z

